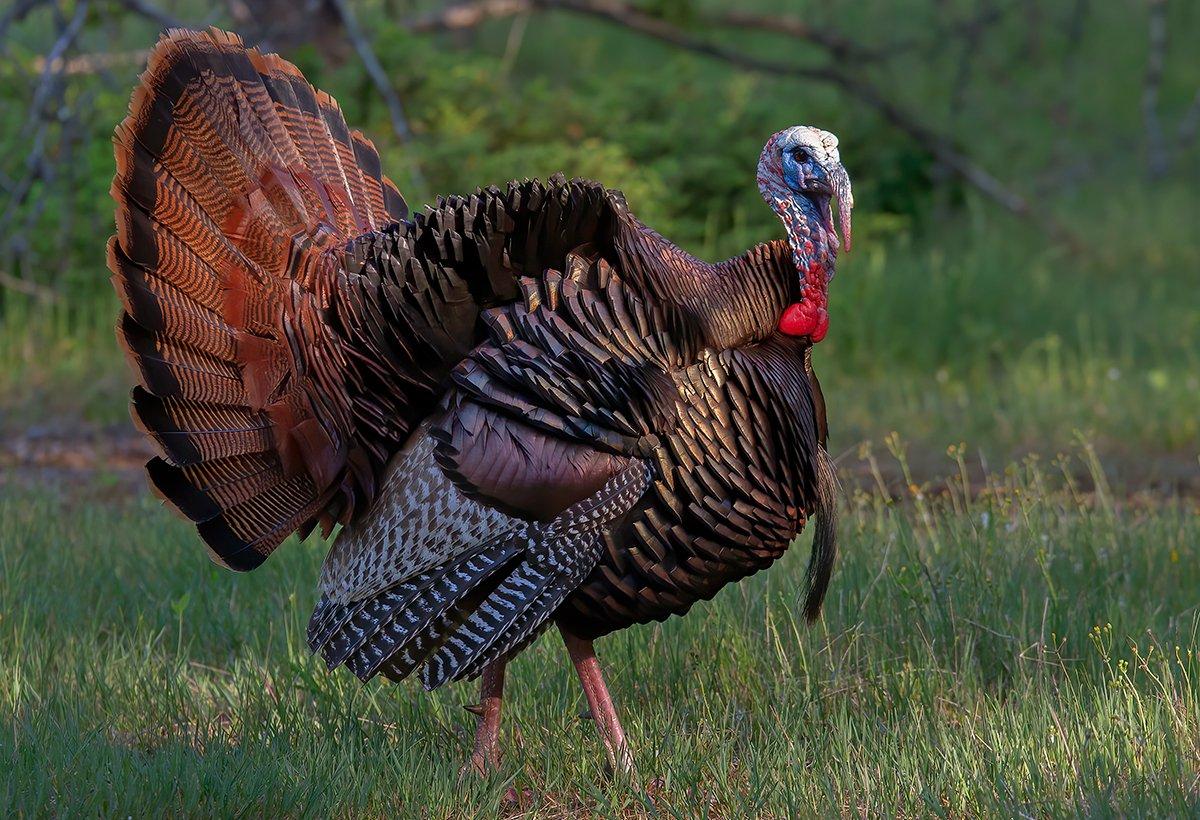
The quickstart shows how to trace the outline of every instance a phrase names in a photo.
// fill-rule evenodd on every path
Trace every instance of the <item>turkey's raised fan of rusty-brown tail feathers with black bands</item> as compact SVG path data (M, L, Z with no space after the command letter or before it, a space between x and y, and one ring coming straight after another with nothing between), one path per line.
M161 453L146 469L216 561L252 569L337 490L310 466L336 436L306 409L281 325L289 281L317 306L331 283L298 256L407 207L331 97L222 31L163 35L114 143L108 264L133 417Z

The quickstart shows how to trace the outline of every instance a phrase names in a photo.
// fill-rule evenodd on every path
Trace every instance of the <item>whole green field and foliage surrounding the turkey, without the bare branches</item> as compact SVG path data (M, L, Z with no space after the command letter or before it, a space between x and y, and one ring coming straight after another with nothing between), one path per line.
M412 204L562 169L720 258L780 234L763 138L841 136L858 205L815 354L845 489L824 615L802 622L804 534L688 617L600 641L636 783L606 772L547 635L510 668L502 770L460 779L474 684L361 687L310 656L324 543L233 575L150 497L103 243L109 136L158 25L144 2L30 0L0 14L0 813L1200 814L1200 10L799 4L848 40L830 50L702 0L635 4L676 44L562 11L438 31L433 0L349 5L410 134L344 37L284 50ZM286 11L216 23L252 30L241 6ZM73 19L67 55L113 62L47 85ZM1032 213L860 96L738 54L833 60Z

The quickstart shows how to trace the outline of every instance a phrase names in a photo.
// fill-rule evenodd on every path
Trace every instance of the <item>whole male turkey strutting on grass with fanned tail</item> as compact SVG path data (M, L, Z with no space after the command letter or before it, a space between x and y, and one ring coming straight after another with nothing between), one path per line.
M833 134L774 134L787 240L713 265L618 191L526 180L410 214L368 139L276 55L169 31L116 128L119 336L155 489L214 559L259 565L343 525L308 642L364 681L482 676L556 623L614 766L593 639L683 613L816 514L834 559L811 347L850 244Z

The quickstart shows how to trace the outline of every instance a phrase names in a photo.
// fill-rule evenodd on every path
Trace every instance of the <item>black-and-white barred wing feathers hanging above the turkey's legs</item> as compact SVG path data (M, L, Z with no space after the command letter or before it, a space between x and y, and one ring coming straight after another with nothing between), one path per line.
M533 641L592 571L601 532L649 486L632 461L593 496L550 522L528 522L499 543L456 555L355 601L326 594L308 623L308 646L360 680L401 680L418 668L426 688L475 677Z

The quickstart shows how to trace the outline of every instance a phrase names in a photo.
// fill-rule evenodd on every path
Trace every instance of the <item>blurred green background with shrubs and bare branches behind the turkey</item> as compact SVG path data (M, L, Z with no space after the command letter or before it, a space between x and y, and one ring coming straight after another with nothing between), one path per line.
M854 251L816 364L851 480L1082 451L1200 491L1200 5L1165 0L10 0L0 486L143 486L110 134L158 30L210 24L330 91L414 207L563 170L710 259L781 235L766 138L834 131Z

